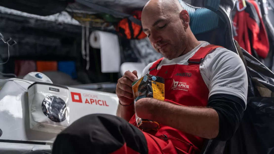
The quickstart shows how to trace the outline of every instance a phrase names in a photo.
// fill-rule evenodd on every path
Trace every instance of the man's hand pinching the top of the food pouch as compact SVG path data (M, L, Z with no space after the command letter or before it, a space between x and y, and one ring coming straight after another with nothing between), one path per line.
M116 85L116 95L118 96L121 104L129 105L133 102L132 83L138 80L137 71L126 71L124 76L118 79Z

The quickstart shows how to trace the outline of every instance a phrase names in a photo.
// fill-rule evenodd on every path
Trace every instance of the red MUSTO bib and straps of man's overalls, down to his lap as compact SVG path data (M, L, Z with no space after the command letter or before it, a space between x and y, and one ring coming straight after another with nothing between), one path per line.
M150 67L149 74L161 76L165 79L165 101L184 106L207 106L209 89L201 76L199 66L206 55L220 46L207 45L201 47L191 58L188 65L163 65L157 70L163 58L157 60ZM182 119L183 120L183 119ZM135 115L129 121L136 127ZM169 126L160 124L158 132L148 132L156 137L166 135L173 145L184 152L199 153L204 139L198 136L181 132ZM190 152L192 148L193 152ZM194 149L194 150L193 150Z

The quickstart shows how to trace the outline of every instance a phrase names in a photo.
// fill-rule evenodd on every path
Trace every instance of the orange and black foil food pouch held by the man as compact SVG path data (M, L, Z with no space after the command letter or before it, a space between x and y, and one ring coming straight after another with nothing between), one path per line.
M154 98L163 101L165 99L164 78L150 74L144 75L142 78L132 83L134 96L134 105L141 98ZM144 131L158 130L159 123L149 119L141 119L136 115L136 123L138 127Z

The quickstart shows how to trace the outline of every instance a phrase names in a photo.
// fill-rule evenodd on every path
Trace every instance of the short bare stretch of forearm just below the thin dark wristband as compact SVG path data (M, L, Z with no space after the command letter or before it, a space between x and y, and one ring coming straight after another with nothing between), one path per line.
M130 106L122 106L119 104L116 115L125 119L126 121L129 121L134 113L134 104Z

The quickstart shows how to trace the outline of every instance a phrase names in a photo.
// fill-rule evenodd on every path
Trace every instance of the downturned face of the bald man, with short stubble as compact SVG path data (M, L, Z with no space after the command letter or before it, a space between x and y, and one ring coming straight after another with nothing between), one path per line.
M142 27L154 49L165 58L177 58L184 51L187 39L179 13L146 10L142 13Z

